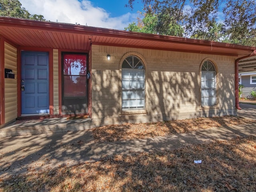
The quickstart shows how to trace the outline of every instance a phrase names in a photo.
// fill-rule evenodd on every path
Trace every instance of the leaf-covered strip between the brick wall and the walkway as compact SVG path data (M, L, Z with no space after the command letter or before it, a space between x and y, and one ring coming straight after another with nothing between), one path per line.
M154 123L126 123L122 125L108 125L93 128L93 136L98 141L117 141L145 139L169 134L186 133L213 127L234 126L256 123L255 120L236 116L222 116L211 118L195 118L185 120L171 120Z

